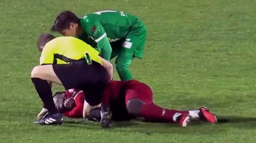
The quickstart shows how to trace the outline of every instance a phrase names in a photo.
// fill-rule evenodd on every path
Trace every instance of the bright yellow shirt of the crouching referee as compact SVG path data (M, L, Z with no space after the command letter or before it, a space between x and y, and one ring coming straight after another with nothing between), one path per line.
M67 64L84 58L86 53L93 61L102 65L99 52L93 47L75 37L60 36L45 44L40 57L40 65Z

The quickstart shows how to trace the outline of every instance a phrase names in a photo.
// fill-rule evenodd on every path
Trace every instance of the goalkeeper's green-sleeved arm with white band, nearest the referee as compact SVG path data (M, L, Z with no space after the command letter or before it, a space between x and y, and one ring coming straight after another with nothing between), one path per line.
M98 50L101 56L110 61L112 48L107 38L107 34L103 26L97 20L86 20L87 17L80 21L83 30L95 40L98 45Z

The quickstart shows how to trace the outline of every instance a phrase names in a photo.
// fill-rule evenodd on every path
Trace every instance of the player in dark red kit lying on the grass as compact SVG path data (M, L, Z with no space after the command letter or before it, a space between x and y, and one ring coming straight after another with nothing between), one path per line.
M114 121L125 121L135 119L136 117L143 117L148 122L174 122L179 123L182 127L185 127L191 118L199 118L210 123L217 122L216 116L205 107L201 107L198 110L179 111L155 105L150 87L136 80L110 81L103 96L102 103L110 105ZM97 108L100 105L92 107L88 103L84 103L83 92L73 89L66 91L64 96L60 98L63 97L66 99L65 105L68 104L68 108L64 110L59 108L59 111L63 112L65 116L69 118L84 117L98 121L101 119L100 109ZM60 106L64 104L64 100L55 103L56 106ZM82 109L83 104L84 109ZM65 106L63 105L63 107ZM73 110L71 110L72 108ZM96 110L93 110L95 108ZM43 114L44 111L42 110L38 116L40 117Z

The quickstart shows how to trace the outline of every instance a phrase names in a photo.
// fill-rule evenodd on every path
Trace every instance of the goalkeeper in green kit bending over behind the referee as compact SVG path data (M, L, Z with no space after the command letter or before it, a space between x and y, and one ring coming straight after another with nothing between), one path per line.
M78 18L71 11L60 13L52 26L64 36L74 36L95 47L106 60L115 57L121 80L133 78L132 60L142 58L147 29L136 17L121 11L98 11Z

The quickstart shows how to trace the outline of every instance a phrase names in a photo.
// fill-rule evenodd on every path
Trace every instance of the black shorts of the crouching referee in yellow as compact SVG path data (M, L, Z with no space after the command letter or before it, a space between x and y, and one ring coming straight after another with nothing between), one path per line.
M66 90L82 90L89 105L95 106L101 103L109 77L101 64L92 62L88 65L85 60L80 60L69 64L54 64L52 68Z

